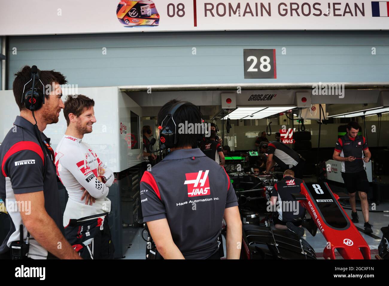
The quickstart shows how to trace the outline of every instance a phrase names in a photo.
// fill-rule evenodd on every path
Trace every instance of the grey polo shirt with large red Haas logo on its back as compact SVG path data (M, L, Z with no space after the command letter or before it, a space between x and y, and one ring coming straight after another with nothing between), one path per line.
M224 168L199 148L172 151L144 172L144 221L166 218L186 259L206 259L218 249L224 209L238 205Z

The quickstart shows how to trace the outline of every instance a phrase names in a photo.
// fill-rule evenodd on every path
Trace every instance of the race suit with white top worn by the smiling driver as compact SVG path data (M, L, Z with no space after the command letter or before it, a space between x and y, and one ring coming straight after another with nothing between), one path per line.
M97 169L104 166L92 148L72 136L65 135L55 152L57 175L68 192L68 202L63 214L63 226L68 242L84 259L113 258L114 246L108 226L111 202L107 198L114 174L105 169L103 184L97 177ZM96 198L85 204L81 200L84 189Z

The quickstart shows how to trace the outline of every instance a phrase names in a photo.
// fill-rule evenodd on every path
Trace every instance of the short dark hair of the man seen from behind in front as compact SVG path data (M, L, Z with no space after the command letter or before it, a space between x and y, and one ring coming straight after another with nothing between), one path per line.
M158 112L158 125L162 125L163 119L166 118L170 109L172 109L172 106L175 105L177 102L179 102L179 100L173 99L163 105L163 107L161 107L161 110L159 110ZM178 133L178 130L179 124L185 124L185 121L187 121L188 124L198 124L201 122L201 112L198 107L190 102L183 104L174 112L173 118L175 124L177 125L177 145L175 147L181 148L191 146L192 148L196 148L197 142L200 138L199 134L180 134Z

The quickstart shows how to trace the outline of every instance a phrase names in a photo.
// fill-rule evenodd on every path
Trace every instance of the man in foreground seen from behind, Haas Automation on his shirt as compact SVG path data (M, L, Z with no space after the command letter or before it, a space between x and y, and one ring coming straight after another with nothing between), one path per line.
M142 177L144 221L163 258L220 259L224 218L227 259L238 259L242 223L235 191L224 168L196 148L201 135L179 131L186 121L203 124L189 102L171 100L159 111L159 141L170 153Z

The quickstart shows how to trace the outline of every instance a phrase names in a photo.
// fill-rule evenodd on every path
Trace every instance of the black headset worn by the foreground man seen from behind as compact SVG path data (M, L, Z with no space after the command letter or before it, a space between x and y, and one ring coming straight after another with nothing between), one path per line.
M160 149L166 149L166 148L173 148L175 145L177 145L178 136L177 136L177 124L174 121L174 114L179 109L180 106L184 104L190 104L190 102L187 101L180 101L170 108L170 111L166 115L166 117L162 120L161 125L158 127L159 129L159 146L161 146ZM201 112L200 112L201 113ZM165 124L164 124L165 122ZM199 140L202 140L205 136L205 123L204 120L201 118L201 131L202 133L199 135ZM163 147L163 148L162 148Z

